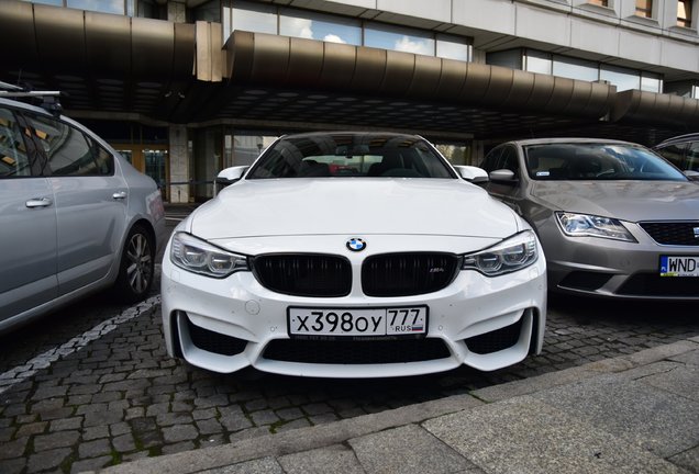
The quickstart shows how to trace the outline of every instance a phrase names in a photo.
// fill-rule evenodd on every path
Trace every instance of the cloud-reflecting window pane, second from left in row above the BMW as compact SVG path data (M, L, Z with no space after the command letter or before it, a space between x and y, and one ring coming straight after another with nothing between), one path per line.
M358 20L288 9L279 12L279 34L357 46L362 44L362 26Z

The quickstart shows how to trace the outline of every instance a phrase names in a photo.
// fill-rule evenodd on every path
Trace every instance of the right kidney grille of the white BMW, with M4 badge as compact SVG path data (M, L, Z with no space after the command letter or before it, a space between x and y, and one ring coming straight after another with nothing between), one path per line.
M410 296L446 287L458 271L453 253L385 253L362 266L362 289L368 296Z

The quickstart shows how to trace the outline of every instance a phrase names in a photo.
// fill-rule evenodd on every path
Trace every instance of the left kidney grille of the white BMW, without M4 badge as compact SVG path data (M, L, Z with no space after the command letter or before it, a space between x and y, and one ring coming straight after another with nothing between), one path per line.
M253 259L259 283L275 293L293 296L339 297L352 290L350 261L329 255L267 255Z

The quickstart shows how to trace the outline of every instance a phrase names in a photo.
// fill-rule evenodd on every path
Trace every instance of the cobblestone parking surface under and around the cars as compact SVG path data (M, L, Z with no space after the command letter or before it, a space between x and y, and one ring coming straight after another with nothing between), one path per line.
M173 224L179 218L169 215ZM699 335L690 304L552 297L543 353L496 372L368 381L220 375L166 356L159 308L157 285L136 306L99 294L0 337L0 472L79 472L235 442Z

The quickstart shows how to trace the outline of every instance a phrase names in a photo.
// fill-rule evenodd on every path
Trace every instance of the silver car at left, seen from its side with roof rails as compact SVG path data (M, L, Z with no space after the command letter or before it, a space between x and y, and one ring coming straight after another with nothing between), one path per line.
M80 124L0 99L0 332L109 286L143 298L164 230L151 178Z

